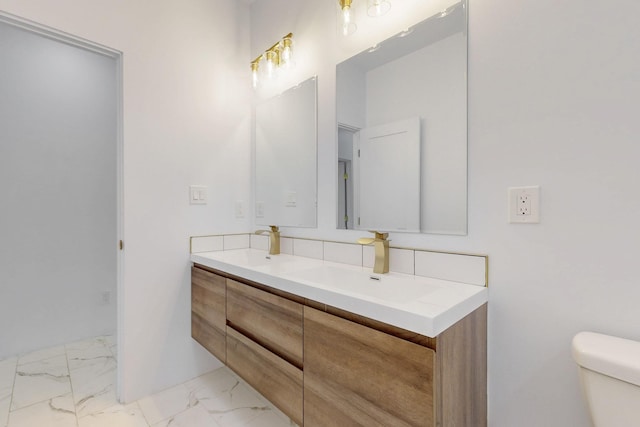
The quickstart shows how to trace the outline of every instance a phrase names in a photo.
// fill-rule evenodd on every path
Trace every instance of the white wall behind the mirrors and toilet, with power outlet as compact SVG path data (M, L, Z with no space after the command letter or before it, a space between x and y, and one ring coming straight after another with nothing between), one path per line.
M293 31L298 72L318 75L319 227L283 233L354 241L335 230L334 67L429 16L428 2L360 13L339 43L321 3L256 2L252 53ZM492 427L586 426L572 336L640 340L640 3L470 0L469 12L469 234L391 238L489 255ZM507 223L506 189L520 185L542 188L538 225Z

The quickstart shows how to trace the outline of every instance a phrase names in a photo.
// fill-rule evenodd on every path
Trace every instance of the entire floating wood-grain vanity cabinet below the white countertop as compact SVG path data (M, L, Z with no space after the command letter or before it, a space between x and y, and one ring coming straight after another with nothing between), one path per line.
M196 265L192 335L300 426L487 425L486 304L430 338Z

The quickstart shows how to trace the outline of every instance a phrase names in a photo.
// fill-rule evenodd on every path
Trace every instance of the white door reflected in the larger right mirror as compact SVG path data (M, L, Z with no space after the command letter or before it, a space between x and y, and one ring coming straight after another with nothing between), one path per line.
M420 119L360 130L354 138L355 228L420 231Z

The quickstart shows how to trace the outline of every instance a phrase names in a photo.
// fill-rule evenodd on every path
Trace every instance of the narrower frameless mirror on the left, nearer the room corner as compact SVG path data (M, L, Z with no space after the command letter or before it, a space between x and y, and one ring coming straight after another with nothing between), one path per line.
M315 227L316 78L256 105L255 223Z

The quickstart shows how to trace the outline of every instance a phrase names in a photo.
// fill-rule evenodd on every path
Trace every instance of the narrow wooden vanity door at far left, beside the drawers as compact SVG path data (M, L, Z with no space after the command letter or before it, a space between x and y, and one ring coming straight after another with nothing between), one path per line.
M191 267L191 336L225 362L225 335L226 279Z

